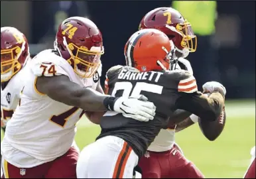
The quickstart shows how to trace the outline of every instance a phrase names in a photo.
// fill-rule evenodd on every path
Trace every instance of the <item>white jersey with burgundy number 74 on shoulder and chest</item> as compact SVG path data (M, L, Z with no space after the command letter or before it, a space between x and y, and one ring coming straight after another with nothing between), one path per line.
M65 154L74 145L76 123L83 110L60 103L36 90L38 76L65 75L82 87L96 89L101 67L89 79L82 79L72 66L53 50L35 56L28 69L29 75L12 119L1 143L1 154L7 162L31 168L50 162Z

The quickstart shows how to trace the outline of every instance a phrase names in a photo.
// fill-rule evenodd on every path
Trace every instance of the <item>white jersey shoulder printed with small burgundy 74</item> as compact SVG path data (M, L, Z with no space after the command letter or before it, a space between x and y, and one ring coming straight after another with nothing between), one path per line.
M35 76L68 76L68 70L72 67L52 50L44 50L32 59L31 69Z

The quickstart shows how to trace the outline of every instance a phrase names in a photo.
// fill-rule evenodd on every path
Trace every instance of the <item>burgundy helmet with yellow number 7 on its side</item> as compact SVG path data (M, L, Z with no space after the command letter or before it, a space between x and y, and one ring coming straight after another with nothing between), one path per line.
M176 47L178 57L186 57L189 52L195 52L197 38L191 25L184 17L171 7L159 7L149 11L139 24L141 29L158 29L164 32Z

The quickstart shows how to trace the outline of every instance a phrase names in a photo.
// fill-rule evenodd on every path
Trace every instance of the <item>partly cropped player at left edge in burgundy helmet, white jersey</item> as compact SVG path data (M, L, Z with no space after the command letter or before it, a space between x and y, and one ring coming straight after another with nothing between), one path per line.
M1 128L19 103L24 68L30 59L26 36L14 27L1 27Z

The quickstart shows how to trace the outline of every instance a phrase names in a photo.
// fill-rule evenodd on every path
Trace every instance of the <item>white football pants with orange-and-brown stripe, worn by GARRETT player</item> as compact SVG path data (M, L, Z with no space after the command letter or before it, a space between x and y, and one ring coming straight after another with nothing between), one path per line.
M107 136L84 147L78 158L76 174L78 178L133 178L138 160L137 154L123 139Z

